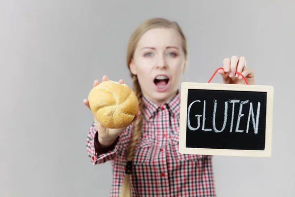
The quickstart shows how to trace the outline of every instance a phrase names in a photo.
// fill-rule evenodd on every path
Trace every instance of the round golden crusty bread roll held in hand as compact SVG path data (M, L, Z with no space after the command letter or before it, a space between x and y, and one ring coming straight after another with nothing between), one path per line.
M100 124L110 129L127 127L138 111L138 99L131 88L112 80L95 86L88 100Z

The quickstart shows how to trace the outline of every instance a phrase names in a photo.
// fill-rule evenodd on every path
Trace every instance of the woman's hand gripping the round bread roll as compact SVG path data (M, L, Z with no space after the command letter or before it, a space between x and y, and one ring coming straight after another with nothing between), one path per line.
M102 82L107 81L107 80L109 80L109 78L106 75L104 75L102 77ZM120 84L124 83L124 81L122 79L120 79L118 82ZM97 86L98 84L99 84L99 81L94 80L93 87ZM84 99L84 104L90 109L88 99ZM139 115L140 115L140 111L137 111L132 122L134 122L138 118ZM97 120L97 118L94 115L93 115L93 117L94 117L94 123L95 123L96 130L98 131L98 141L101 144L101 146L103 146L103 147L108 147L108 146L112 145L113 142L116 140L116 138L119 136L119 134L121 134L126 129L126 127L121 128L121 129L106 128L99 123L99 121Z

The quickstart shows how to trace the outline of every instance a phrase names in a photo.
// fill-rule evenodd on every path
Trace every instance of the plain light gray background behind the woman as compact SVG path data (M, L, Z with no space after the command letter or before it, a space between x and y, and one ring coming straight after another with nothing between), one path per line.
M182 81L207 82L245 56L257 85L273 85L271 158L215 156L218 197L294 197L294 1L0 0L0 196L107 197L110 163L92 166L83 104L94 79L131 84L130 33L176 20L189 41ZM118 71L122 68L123 71ZM212 80L221 82L220 76Z

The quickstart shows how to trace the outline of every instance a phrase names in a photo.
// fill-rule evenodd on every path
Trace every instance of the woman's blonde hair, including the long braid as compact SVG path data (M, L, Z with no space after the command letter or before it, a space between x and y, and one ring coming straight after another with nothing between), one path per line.
M187 47L187 42L186 38L180 29L179 25L177 22L174 21L169 21L164 18L151 18L143 23L140 24L139 27L135 29L135 31L131 34L130 40L128 42L128 48L127 48L127 66L130 71L130 63L132 61L134 51L136 49L137 43L141 36L146 33L148 30L153 29L153 28L172 28L177 30L177 32L180 34L182 38L182 49L184 51L185 59L187 59L187 54L188 54L188 47ZM132 77L133 81L133 91L135 95L137 96L137 99L139 101L139 110L142 111L143 108L143 100L142 100L142 91L140 84L138 82L137 76L133 75L130 71L130 75ZM123 180L122 184L122 189L120 192L120 197L131 197L131 183L130 183L130 174L132 173L132 159L133 159L133 154L135 151L135 146L137 144L137 140L141 135L141 130L142 130L142 114L137 118L137 120L134 122L134 130L133 130L133 135L132 138L129 142L129 146L126 149L126 159L127 159L127 164L126 164L126 175Z

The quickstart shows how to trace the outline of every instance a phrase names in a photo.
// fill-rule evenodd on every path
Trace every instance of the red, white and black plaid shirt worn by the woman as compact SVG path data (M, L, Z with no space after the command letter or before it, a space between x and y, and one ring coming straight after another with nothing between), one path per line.
M212 157L178 152L180 93L165 105L143 98L143 131L133 161L133 197L215 197ZM113 147L100 153L94 123L89 128L87 152L92 164L111 161L111 197L118 197L125 175L125 148L131 138L131 124Z

